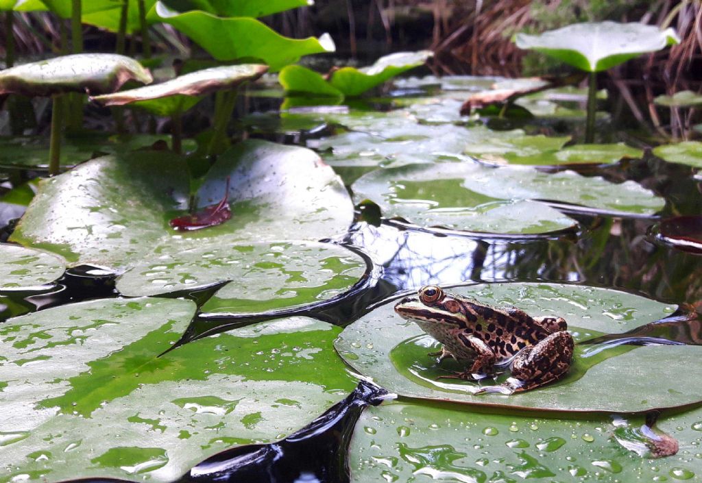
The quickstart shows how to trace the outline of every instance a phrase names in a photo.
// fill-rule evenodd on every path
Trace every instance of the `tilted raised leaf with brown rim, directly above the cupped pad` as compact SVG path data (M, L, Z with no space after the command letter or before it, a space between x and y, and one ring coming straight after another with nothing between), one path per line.
M223 65L185 74L161 84L97 95L91 100L107 106L133 104L158 116L171 116L196 105L201 100L200 95L256 80L267 70L266 65L258 64Z

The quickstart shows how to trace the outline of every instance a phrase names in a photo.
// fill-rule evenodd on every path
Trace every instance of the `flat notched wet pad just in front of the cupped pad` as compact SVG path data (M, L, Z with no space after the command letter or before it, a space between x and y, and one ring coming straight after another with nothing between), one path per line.
M156 295L233 281L205 312L265 312L319 302L347 291L366 263L341 246L273 242L205 246L141 260L117 280L126 296Z

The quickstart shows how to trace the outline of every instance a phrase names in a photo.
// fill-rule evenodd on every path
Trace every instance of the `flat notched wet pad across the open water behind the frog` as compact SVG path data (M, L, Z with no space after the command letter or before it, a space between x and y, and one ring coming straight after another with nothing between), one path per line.
M379 169L357 179L352 191L357 203L370 199L378 204L385 218L494 233L543 233L574 224L531 200L564 202L612 216L649 215L664 205L663 199L633 181L614 185L573 171L542 173L526 166L475 163Z

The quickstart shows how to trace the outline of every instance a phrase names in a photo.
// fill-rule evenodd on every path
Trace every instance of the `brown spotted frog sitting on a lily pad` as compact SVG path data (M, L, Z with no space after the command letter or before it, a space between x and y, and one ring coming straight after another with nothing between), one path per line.
M446 357L470 362L465 371L440 378L477 381L509 367L507 381L482 386L475 394L538 388L565 376L572 364L575 344L563 317L531 317L517 307L493 307L437 285L400 300L395 312L442 343L441 352L430 354L439 356L438 364Z

